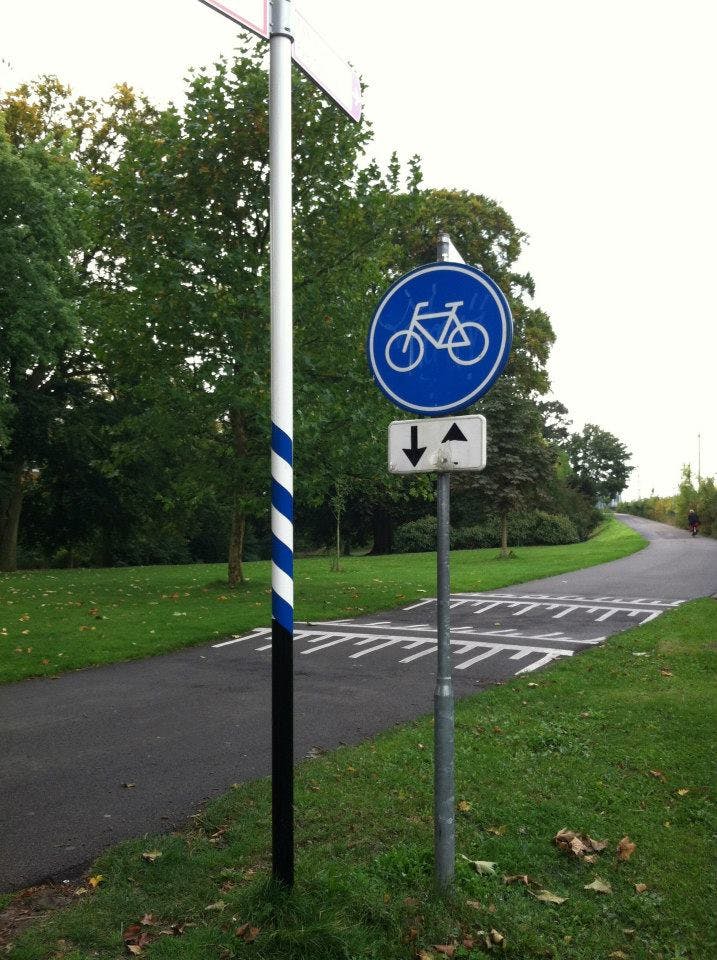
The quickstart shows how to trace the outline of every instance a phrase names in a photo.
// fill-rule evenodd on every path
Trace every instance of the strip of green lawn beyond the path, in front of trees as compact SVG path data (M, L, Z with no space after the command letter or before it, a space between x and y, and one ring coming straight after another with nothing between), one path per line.
M610 519L585 543L452 554L453 590L494 590L605 563L634 553L643 538ZM350 557L296 563L296 616L335 619L435 596L435 554ZM247 582L229 590L222 564L0 575L0 682L53 676L92 664L138 659L266 626L270 565L246 564Z

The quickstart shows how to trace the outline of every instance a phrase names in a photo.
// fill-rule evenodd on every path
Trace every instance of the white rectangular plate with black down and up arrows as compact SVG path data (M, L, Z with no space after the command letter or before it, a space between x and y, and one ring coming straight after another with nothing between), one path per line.
M388 427L390 473L452 473L483 470L485 417L394 420Z

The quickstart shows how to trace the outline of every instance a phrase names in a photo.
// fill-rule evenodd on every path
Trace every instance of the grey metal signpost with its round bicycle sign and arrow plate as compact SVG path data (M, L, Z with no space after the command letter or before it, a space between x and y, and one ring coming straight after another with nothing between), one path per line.
M438 263L400 277L379 303L366 351L376 383L397 407L438 417L464 410L490 390L508 362L513 320L503 292L463 261L450 237ZM482 416L399 420L389 427L391 473L438 474L437 641L434 693L436 885L455 874L454 697L451 664L450 476L482 470Z

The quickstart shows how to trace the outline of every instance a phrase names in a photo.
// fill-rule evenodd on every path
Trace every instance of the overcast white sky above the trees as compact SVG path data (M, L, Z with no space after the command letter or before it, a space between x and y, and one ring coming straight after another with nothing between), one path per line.
M378 159L418 153L427 186L485 193L529 234L554 395L627 444L627 495L673 492L698 434L714 475L717 3L294 3L368 84ZM198 0L0 0L0 88L56 73L178 100L234 36Z

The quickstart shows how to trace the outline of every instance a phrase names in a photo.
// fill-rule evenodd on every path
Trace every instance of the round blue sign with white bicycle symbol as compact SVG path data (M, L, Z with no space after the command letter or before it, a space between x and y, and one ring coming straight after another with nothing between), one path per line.
M371 320L366 351L389 400L439 416L490 390L512 340L508 301L489 276L468 264L430 263L389 288Z

